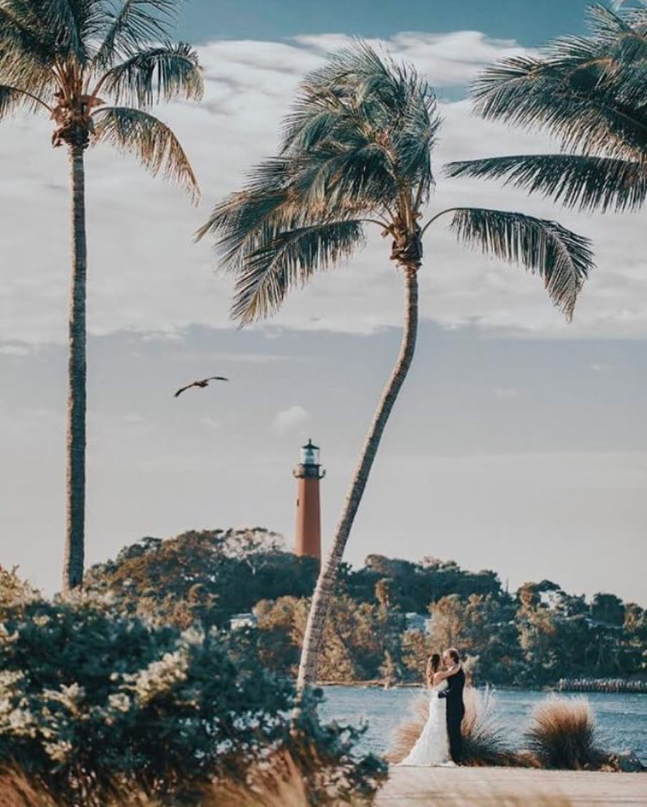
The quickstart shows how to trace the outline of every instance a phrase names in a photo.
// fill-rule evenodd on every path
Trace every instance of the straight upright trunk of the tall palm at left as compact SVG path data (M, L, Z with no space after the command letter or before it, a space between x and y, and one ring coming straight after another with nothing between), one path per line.
M83 581L86 504L86 207L84 148L69 145L72 282L69 293L67 473L63 588Z

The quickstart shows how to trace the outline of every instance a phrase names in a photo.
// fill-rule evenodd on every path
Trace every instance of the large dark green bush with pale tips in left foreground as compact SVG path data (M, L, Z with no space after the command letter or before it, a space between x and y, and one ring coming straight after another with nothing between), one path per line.
M342 792L370 790L383 771L355 756L355 730L314 713L291 730L294 686L245 632L156 626L96 595L50 602L0 571L0 670L0 766L42 777L69 805L103 805L124 780L188 803L269 746L306 773L316 757L319 786L339 779Z

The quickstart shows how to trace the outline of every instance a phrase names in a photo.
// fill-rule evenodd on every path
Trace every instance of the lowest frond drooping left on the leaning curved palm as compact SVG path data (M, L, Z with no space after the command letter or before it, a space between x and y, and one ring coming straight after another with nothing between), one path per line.
M236 278L232 318L246 324L270 316L290 289L362 244L359 221L311 224L277 233L245 257Z

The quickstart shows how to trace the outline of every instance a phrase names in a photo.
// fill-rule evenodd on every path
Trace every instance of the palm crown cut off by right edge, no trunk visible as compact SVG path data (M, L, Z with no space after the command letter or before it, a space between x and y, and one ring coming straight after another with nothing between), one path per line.
M477 112L543 128L561 153L488 157L447 166L454 177L506 178L580 210L632 211L647 198L647 4L592 6L589 36L515 56L473 86Z

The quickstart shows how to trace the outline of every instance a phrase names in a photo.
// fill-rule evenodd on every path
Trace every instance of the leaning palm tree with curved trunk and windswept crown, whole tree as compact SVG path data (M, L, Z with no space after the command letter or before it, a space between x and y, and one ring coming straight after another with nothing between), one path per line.
M592 266L588 241L521 213L455 207L422 224L434 186L431 149L439 129L435 96L407 66L356 44L305 78L285 122L278 157L216 206L198 237L216 236L222 265L236 276L233 318L275 312L294 286L363 244L375 225L391 240L405 286L400 353L368 429L333 544L317 580L301 655L300 691L316 680L317 653L334 581L380 439L414 358L422 236L443 216L460 240L540 274L571 316Z

